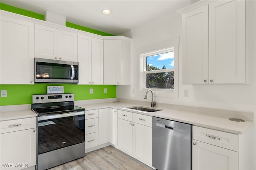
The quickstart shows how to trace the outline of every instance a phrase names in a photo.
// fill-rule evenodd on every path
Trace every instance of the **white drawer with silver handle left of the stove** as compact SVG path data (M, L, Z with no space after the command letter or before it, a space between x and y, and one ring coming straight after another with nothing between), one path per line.
M36 128L36 117L15 119L10 121L1 121L0 123L1 134L30 128Z

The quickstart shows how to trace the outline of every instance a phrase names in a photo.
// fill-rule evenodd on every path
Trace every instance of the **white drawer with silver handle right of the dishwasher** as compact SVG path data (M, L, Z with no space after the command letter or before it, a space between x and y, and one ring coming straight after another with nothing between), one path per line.
M192 138L238 152L238 135L202 127L192 127Z

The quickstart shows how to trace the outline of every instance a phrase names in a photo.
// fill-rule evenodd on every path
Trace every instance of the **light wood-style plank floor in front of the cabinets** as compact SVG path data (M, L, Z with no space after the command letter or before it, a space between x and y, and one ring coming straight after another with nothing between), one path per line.
M153 170L113 146L86 153L83 158L49 170Z

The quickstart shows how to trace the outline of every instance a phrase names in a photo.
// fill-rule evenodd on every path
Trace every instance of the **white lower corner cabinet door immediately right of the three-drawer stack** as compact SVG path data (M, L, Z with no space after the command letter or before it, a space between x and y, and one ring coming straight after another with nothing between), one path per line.
M109 108L99 109L98 144L109 142Z

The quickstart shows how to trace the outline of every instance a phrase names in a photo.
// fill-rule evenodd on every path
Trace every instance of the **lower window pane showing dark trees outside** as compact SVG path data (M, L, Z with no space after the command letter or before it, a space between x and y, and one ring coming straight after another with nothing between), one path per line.
M146 88L174 89L174 71L146 74Z

